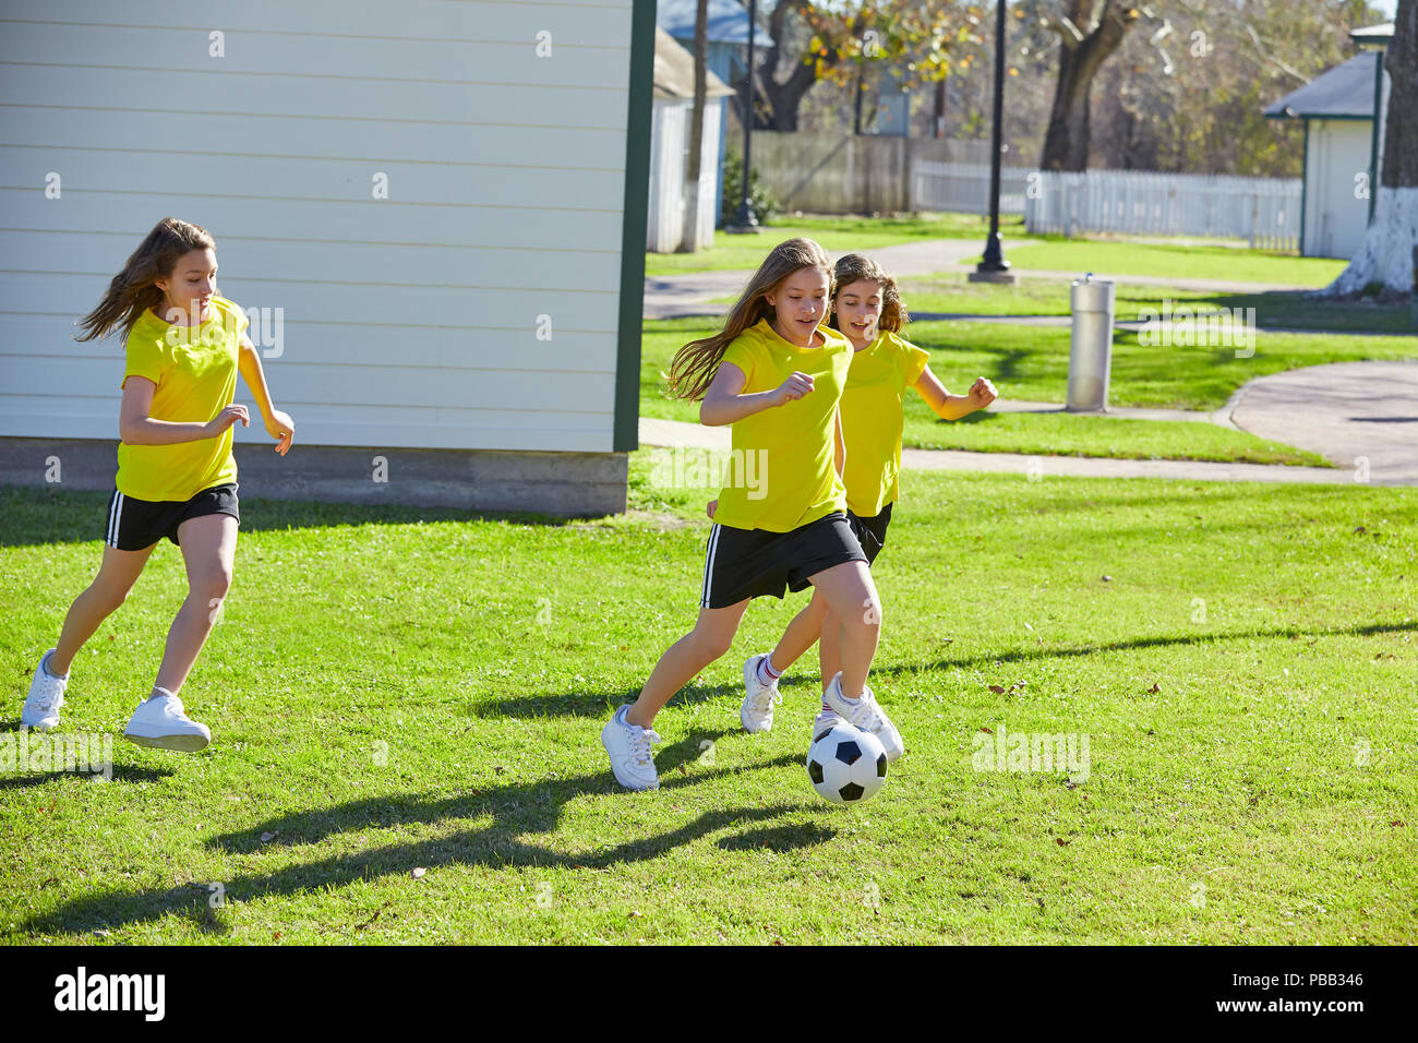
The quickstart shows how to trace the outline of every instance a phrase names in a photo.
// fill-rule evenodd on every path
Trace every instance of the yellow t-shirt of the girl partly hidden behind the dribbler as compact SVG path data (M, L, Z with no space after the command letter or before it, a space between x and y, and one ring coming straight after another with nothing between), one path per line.
M858 518L881 514L896 502L900 433L906 389L915 385L930 355L896 333L878 333L852 356L842 392L842 440L847 443L847 505Z

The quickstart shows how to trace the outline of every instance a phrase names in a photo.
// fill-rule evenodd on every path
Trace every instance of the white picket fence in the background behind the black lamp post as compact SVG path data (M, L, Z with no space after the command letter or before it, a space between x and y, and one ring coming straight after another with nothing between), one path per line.
M915 210L988 213L990 167L916 163L912 192ZM1244 238L1255 248L1297 250L1300 179L1004 167L1000 211L1024 214L1031 233Z

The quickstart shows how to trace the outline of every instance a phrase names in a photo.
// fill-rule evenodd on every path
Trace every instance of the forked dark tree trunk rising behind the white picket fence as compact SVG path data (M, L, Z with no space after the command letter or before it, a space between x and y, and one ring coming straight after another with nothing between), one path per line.
M1065 0L1064 14L1079 33L1093 18L1095 0ZM1088 105L1093 77L1109 55L1123 43L1123 35L1137 20L1137 10L1105 0L1098 26L1082 40L1076 40L1064 26L1056 31L1064 41L1059 51L1059 78L1054 88L1054 109L1049 129L1044 136L1045 170L1088 169Z

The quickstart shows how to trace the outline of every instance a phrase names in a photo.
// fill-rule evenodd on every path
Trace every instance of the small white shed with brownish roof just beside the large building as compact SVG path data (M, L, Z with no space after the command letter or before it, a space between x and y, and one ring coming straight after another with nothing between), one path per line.
M733 91L708 74L705 125L699 163L699 237L713 243L715 206L719 199L720 98ZM649 219L645 248L674 253L683 238L689 166L689 133L695 106L695 55L672 35L655 28L655 105L649 132Z

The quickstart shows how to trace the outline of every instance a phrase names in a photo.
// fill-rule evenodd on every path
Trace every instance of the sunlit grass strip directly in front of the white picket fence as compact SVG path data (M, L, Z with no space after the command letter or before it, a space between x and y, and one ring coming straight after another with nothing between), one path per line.
M1098 243L1049 238L1005 244L1010 264L1021 270L1156 275L1160 278L1229 280L1323 287L1344 271L1346 261L1296 257L1266 250L1159 243ZM961 263L966 264L966 263ZM974 267L974 261L968 261Z

